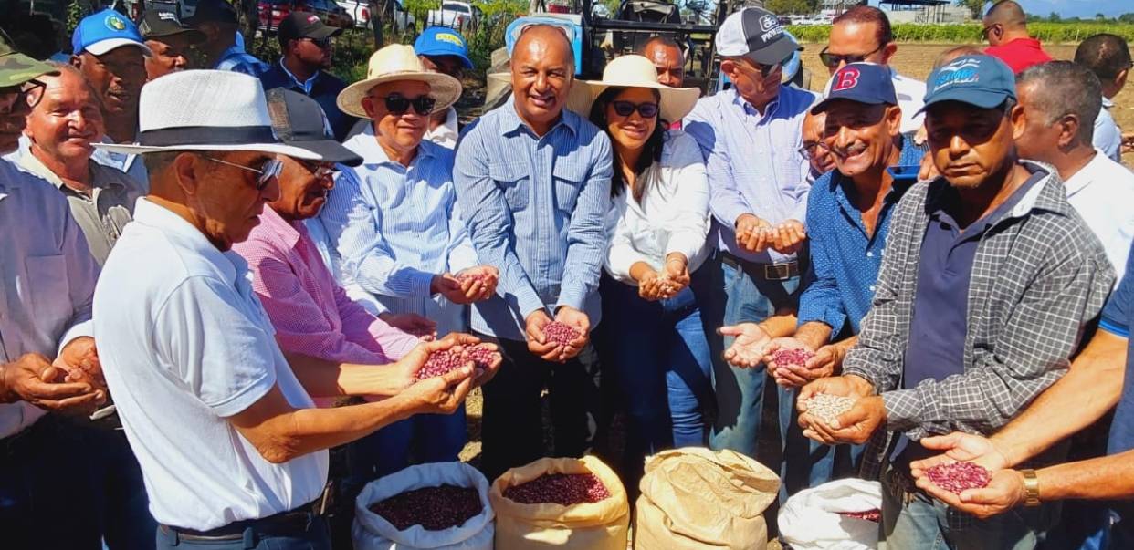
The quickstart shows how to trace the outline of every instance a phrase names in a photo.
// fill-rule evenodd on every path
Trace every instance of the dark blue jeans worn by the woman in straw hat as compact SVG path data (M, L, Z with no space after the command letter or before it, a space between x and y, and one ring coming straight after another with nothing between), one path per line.
M603 275L600 330L606 372L626 411L623 481L636 487L646 455L672 447L704 446L702 411L712 388L712 352L699 303L711 292L704 269L674 298L648 301L638 289Z

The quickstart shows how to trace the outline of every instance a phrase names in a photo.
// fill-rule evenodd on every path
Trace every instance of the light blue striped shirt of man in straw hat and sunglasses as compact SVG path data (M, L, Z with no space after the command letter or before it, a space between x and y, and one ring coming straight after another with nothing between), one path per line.
M452 188L452 151L422 141L403 166L373 124L344 145L363 164L341 166L320 213L341 257L340 284L357 284L388 311L435 320L439 334L465 330L464 306L430 292L434 275L477 265Z

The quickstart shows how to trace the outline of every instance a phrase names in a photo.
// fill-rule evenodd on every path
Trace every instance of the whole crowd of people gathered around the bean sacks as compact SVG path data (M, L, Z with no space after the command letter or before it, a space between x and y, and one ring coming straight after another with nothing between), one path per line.
M265 63L237 20L0 45L3 548L330 548L335 497L459 459L474 388L490 480L617 449L634 498L646 456L708 446L781 498L880 481L889 549L1134 545L1122 37L1052 60L1005 0L923 83L856 6L814 93L748 7L702 96L669 37L583 80L533 24L462 127L454 29L345 83L341 29L293 12ZM957 461L989 485L929 481Z

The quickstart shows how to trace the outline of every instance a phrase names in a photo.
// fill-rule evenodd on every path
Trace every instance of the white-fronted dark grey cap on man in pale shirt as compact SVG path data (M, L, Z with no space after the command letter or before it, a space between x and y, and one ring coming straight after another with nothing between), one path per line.
M717 31L716 46L721 57L744 55L762 65L784 62L802 50L779 17L763 8L744 8L728 16Z

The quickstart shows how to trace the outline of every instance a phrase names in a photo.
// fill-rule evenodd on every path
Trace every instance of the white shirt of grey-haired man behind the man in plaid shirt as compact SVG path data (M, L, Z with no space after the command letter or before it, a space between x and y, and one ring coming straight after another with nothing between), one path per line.
M1134 240L1134 173L1095 149L1094 158L1064 182L1067 201L1102 241L1122 281Z

